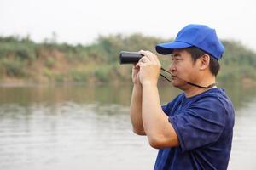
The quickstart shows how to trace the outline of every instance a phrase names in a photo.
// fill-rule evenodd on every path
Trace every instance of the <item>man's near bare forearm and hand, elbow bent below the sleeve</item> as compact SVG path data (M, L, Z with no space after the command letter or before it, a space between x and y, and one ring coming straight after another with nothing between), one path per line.
M139 67L139 81L142 84L142 97L139 101L133 101L142 108L137 108L140 127L148 137L149 144L157 149L178 145L177 134L168 122L168 116L160 105L160 97L157 88L157 81L160 74L160 61L157 56L149 51L140 51L144 56L139 60L136 67ZM134 92L134 95L137 94ZM136 95L135 95L136 96ZM133 100L133 99L132 99ZM139 111L138 111L139 110ZM136 123L137 124L137 123Z

